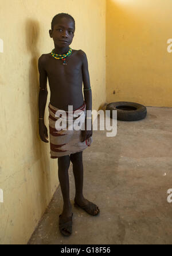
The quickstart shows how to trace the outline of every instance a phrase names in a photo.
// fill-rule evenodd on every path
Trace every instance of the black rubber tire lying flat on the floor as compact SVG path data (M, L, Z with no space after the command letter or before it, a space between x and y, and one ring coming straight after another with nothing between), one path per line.
M124 110L125 107L126 110ZM145 106L139 103L128 101L112 102L107 105L106 110L110 110L111 118L112 110L117 110L117 120L128 122L139 121L146 118L147 115L147 109Z

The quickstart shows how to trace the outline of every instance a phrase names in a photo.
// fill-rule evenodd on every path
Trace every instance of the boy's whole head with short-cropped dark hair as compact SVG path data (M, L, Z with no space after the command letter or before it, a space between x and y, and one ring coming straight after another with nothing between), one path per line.
M51 24L52 29L49 30L50 37L53 38L54 43L58 46L63 47L72 43L73 36L75 33L75 20L67 13L59 13L54 16ZM61 40L67 41L62 43Z

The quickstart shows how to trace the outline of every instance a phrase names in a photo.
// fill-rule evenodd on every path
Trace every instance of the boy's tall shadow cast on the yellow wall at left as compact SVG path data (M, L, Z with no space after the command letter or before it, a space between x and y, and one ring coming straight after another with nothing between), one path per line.
M39 73L38 73L38 58L41 56L37 47L38 39L40 37L40 24L32 19L26 20L26 49L30 54L30 67L29 67L29 107L32 120L32 138L33 138L33 155L34 160L39 161L40 167L38 172L38 183L40 187L37 188L40 191L41 197L46 198L46 203L49 203L51 197L50 190L50 162L47 155L47 144L42 142L39 135L38 126L38 95L40 91ZM34 161L34 162L35 162ZM44 211L44 205L42 205Z

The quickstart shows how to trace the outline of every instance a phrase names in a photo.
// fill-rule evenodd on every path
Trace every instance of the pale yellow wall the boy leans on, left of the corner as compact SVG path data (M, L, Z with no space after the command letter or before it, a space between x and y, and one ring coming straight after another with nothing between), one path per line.
M37 61L54 47L48 32L52 18L71 14L76 21L71 47L87 54L97 110L105 102L105 0L0 3L0 244L25 244L59 185L57 160L50 159L49 144L38 135ZM50 92L47 127L49 97Z

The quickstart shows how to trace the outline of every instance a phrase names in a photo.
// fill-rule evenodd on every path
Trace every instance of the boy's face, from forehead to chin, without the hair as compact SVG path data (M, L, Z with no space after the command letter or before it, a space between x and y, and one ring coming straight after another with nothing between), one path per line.
M71 19L58 18L53 30L49 31L49 35L51 38L53 38L54 44L56 46L66 47L72 43L74 32L75 28Z

